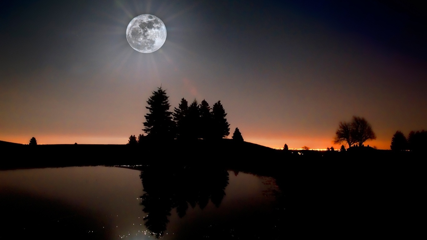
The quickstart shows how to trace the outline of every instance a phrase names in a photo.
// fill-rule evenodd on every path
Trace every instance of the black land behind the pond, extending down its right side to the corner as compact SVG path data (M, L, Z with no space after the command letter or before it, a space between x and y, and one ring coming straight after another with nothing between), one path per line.
M277 208L284 216L278 229L286 229L287 236L426 237L426 158L416 152L285 152L232 140L161 146L3 145L2 152L14 156L3 158L2 169L198 166L272 176L281 190Z

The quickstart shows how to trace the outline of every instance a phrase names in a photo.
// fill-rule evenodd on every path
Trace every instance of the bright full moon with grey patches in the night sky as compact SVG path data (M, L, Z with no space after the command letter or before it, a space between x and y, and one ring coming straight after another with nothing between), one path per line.
M128 24L126 38L129 45L138 52L152 53L166 41L166 26L154 15L139 15Z

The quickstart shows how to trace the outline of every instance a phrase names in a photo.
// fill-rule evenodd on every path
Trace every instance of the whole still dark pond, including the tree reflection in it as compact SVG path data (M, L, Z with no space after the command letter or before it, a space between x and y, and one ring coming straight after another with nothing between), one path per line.
M276 193L272 178L224 170L0 171L0 239L271 239Z

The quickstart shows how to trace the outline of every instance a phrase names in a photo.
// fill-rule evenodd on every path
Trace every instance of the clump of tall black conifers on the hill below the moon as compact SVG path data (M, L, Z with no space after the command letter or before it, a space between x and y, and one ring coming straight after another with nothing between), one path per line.
M136 141L138 143L145 138L154 141L217 140L230 134L230 124L225 118L227 114L221 101L213 104L211 108L206 100L199 104L195 99L188 105L187 100L182 98L178 108L171 112L169 97L160 87L152 92L147 103L149 113L144 116L146 121L143 123L143 131L147 135L140 135ZM131 135L129 144L135 144L135 139L135 135Z

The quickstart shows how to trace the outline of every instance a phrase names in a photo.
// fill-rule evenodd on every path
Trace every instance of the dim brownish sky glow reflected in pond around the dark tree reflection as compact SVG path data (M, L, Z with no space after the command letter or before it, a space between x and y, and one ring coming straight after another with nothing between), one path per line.
M183 218L179 218L176 209L172 209L164 238L169 239L171 235L173 239L185 236L192 229L233 220L248 211L253 211L255 215L257 212L270 211L269 203L274 197L269 193L275 189L274 181L245 173L235 176L230 172L228 182L219 208L211 201L203 210L199 206L189 206ZM38 219L37 216L28 216L28 211L40 208L47 209L43 210L49 212L44 217L50 222L67 221L68 225L73 225L75 221L93 220L82 228L85 228L88 237L94 234L94 239L101 239L102 236L108 236L109 239L154 238L147 233L144 225L143 217L146 214L142 211L139 199L142 194L140 171L137 170L67 167L0 171L0 204L9 205L9 217L12 216L9 225L13 229L22 230L23 234L26 231L24 229L32 224L31 220ZM48 228L55 226L47 225ZM50 229L39 231L48 236ZM0 233L0 237L4 234ZM13 235L6 233L6 236Z

